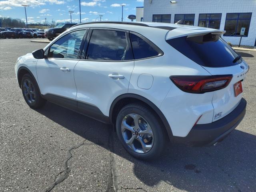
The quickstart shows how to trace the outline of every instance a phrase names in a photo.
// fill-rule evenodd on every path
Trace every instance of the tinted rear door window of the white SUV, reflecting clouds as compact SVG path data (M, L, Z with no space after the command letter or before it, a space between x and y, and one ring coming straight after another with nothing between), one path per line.
M124 31L93 30L86 59L123 61L132 60L133 55Z

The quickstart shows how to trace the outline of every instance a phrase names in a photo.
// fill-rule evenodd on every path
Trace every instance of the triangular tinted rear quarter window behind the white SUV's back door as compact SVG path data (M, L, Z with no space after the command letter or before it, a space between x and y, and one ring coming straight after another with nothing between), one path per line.
M134 59L150 58L162 54L162 51L149 40L130 33Z

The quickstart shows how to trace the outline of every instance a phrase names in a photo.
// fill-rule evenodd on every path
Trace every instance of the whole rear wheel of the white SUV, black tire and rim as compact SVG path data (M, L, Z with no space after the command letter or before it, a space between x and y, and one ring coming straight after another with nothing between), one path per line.
M135 120L138 120L137 126ZM116 132L125 150L141 160L160 156L166 143L165 130L155 112L140 104L128 104L120 110L116 118ZM127 142L132 140L128 145Z

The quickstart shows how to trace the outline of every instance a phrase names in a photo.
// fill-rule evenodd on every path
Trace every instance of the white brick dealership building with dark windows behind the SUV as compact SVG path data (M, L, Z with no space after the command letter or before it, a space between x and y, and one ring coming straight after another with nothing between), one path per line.
M136 21L165 22L225 30L231 44L256 46L256 0L144 0Z

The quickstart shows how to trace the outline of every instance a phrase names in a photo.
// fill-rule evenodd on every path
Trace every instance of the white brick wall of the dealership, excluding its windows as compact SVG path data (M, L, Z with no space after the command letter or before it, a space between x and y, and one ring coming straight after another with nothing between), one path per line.
M224 30L227 13L252 12L248 37L243 37L241 45L254 46L256 40L256 0L144 0L144 21L152 22L153 14L195 14L194 25L198 26L199 14L222 13L220 30ZM223 36L224 40L236 45L240 37Z

